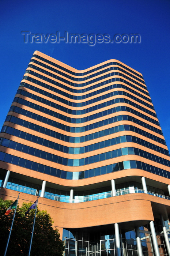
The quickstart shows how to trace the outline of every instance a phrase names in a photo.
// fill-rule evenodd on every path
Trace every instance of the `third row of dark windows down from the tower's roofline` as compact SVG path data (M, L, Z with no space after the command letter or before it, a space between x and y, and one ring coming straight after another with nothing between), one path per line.
M31 67L31 68L33 68L33 69L35 69L35 70L37 70L37 71L39 71L39 72L41 72L41 73L43 73L43 74L45 74L45 75L48 75L48 76L50 76L50 77L52 77L52 78L54 78L54 79L57 79L57 80L59 80L59 81L61 81L61 82L63 82L63 83L69 84L69 85L71 85L71 86L73 86L73 87L83 87L83 86L87 86L87 85L89 85L89 84L96 83L96 82L101 81L101 80L103 80L103 79L109 78L110 76L122 76L123 78L127 79L128 81L131 81L132 83L135 83L135 84L137 84L138 86L140 86L140 87L146 89L146 86L144 86L143 84L141 84L141 83L143 83L143 81L140 81L141 83L136 82L136 81L133 80L132 78L129 78L128 76L126 76L126 75L124 75L124 74L122 74L122 73L120 73L120 72L110 72L110 73L108 73L108 74L106 74L106 75L100 76L100 77L98 77L98 78L94 78L94 79L92 79L92 80L90 80L90 81L88 81L88 82L84 82L84 83L73 83L73 82L68 81L67 79L64 79L64 78L62 78L62 77L60 77L60 76L57 76L57 75L55 75L55 74L53 74L53 73L51 73L51 72L49 72L49 71L46 71L46 70L44 70L44 69L42 69L42 68L39 68L39 67L37 67L37 66L35 66L35 65L33 65L33 64L30 64L28 67ZM26 73L30 73L30 74L34 75L33 72L34 72L34 71L32 71L32 70L30 70L30 69L27 69L27 70L26 70ZM35 72L35 74L36 74L35 76L38 75L38 73L36 73L36 72ZM43 77L44 77L44 76L43 76ZM46 79L48 79L48 78L46 78ZM48 81L48 80L47 80L47 81Z

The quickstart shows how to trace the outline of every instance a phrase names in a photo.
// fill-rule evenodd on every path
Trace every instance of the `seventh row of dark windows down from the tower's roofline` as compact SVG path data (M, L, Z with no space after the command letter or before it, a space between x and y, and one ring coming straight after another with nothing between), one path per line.
M114 91L113 92L113 96L118 95L119 92L122 95L122 93L123 93L122 91ZM146 113L150 114L151 116L156 117L156 114L154 112L151 112L150 110L148 110L146 108L143 108L142 106L136 104L135 102L132 102L129 99L124 99L124 98L111 99L110 101L106 101L106 102L100 103L98 105L95 105L95 106L92 106L90 108L83 109L83 110L72 110L72 109L68 109L68 108L66 108L64 106L61 106L61 105L59 105L57 103L54 103L52 101L49 101L47 99L41 98L41 97L39 97L39 96L37 96L35 94L29 93L27 91L24 91L22 89L19 89L16 92L16 94L24 95L24 96L26 96L28 98L34 99L35 101L42 102L45 105L51 106L51 107L53 107L55 109L58 109L58 110L61 110L61 111L65 112L65 113L73 114L73 115L86 114L86 113L92 112L92 111L97 110L97 109L105 108L106 106L111 106L111 105L113 105L115 103L124 102L124 103L127 103L129 105L134 106L135 108L138 108L138 109L142 110L143 112L146 112Z

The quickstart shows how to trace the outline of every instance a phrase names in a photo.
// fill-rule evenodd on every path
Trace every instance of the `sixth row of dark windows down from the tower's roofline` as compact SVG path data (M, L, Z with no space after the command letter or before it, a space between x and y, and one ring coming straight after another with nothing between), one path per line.
M22 87L25 87L25 88L28 88L28 89L30 89L30 90L32 90L32 91L35 91L35 92L37 92L37 93L40 93L40 94L42 94L42 95L45 95L45 96L47 96L47 97L49 97L49 98L55 99L56 101L62 102L62 103L64 103L64 104L68 105L68 106L73 106L73 107L76 107L76 108L78 108L78 107L83 107L83 106L87 106L87 105L90 105L90 104L92 104L92 103L99 102L99 101L102 101L103 99L108 99L108 98L113 97L113 96L116 96L116 95L125 95L125 96L127 96L127 97L129 97L129 98L131 98L131 99L134 99L135 101L137 101L137 102L143 104L144 106L147 106L148 108L154 110L154 106L152 106L152 105L148 104L147 102L145 102L145 101L143 101L143 100L141 100L141 99L135 97L135 96L132 95L132 94L127 93L126 91L112 91L111 93L107 93L107 94L101 95L101 96L99 96L99 97L90 99L90 100L88 100L88 101L84 101L84 102L72 102L72 101L68 101L67 99L60 98L60 97L58 97L58 96L55 95L55 94L48 93L47 91L44 91L44 90L42 90L42 89L39 89L38 87L35 87L35 86L30 85L30 84L28 84L28 83L23 83L23 82L22 82L22 83L20 83L20 87L21 87L21 86L22 86ZM114 89L114 88L117 88L118 86L120 87L120 84L113 84L112 86L109 86L109 88L111 87L112 89ZM127 86L124 86L124 88L129 89L129 87L127 87ZM103 90L103 89L101 89L101 90L99 90L99 91L101 92L102 90ZM98 92L98 91L97 91L97 92ZM136 93L136 91L133 91L133 92ZM138 95L138 96L139 96L139 95ZM134 103L134 104L135 104L135 103ZM82 114L83 114L83 111L85 111L85 110L81 110L81 111L82 111ZM85 112L84 112L84 113L85 113Z

